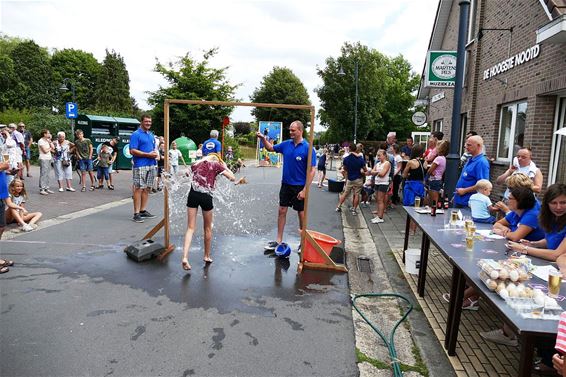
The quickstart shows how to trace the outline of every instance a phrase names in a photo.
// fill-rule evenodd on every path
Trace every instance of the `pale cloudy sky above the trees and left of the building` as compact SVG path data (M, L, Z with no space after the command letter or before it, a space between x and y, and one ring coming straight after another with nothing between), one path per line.
M76 48L102 61L114 49L126 62L132 95L147 107L147 91L165 85L155 58L219 47L213 61L249 96L274 66L293 70L318 108L316 66L338 56L345 41L360 41L387 55L403 54L422 70L438 0L374 1L173 1L0 0L0 30L41 46ZM232 118L250 120L249 108Z

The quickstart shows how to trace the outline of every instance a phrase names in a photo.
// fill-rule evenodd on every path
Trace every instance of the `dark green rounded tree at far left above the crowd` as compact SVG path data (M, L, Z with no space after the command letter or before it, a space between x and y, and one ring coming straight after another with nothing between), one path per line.
M51 109L56 88L47 50L34 41L24 41L12 49L10 58L16 82L7 105L18 109Z

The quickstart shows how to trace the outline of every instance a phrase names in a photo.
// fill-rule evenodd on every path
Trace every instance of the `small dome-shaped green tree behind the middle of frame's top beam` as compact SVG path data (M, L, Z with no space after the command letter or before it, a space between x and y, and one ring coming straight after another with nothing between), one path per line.
M260 86L251 95L252 102L282 103L289 105L310 105L309 94L301 80L285 67L273 67L273 70L263 77ZM289 137L289 125L300 120L306 125L310 121L308 110L278 109L256 107L252 115L257 121L283 122L283 139Z

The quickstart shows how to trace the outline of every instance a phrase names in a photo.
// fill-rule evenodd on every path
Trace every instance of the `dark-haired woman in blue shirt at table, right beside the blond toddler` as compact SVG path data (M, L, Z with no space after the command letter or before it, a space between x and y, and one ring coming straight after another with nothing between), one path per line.
M540 206L531 189L511 189L509 209L511 212L493 225L494 233L516 242L521 239L538 241L544 238L544 231L538 223Z

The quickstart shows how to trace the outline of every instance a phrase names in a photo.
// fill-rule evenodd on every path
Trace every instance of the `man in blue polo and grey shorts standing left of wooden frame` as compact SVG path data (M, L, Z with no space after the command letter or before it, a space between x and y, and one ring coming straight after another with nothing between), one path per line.
M143 223L144 219L154 218L146 211L149 190L153 187L153 181L157 172L158 156L155 148L155 136L151 128L151 117L142 115L140 128L130 136L130 153L134 166L132 168L134 180L134 217L133 221Z

